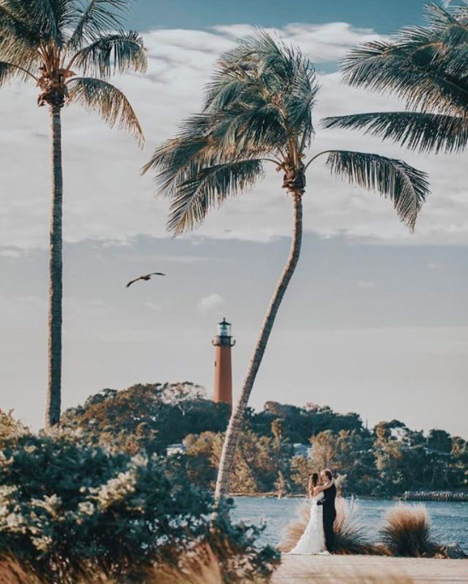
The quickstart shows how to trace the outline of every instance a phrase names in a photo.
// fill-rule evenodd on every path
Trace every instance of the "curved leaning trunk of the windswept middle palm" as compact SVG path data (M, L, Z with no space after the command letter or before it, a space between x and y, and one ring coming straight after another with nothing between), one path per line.
M302 200L301 194L292 194L294 215L293 234L291 247L289 250L289 257L287 258L283 273L278 280L278 284L276 284L270 305L266 311L261 332L256 341L254 352L252 353L247 375L245 376L244 383L242 384L241 395L238 398L237 404L234 406L233 413L231 414L231 418L226 430L226 437L224 439L223 451L221 452L218 477L216 481L216 491L214 493L214 498L216 501L219 501L220 498L228 495L229 493L229 479L233 465L234 451L241 429L242 420L244 419L245 409L247 408L247 403L252 391L252 387L254 386L255 377L258 373L260 363L265 353L266 343L268 342L268 338L273 329L273 324L275 323L279 305L285 296L286 288L293 276L294 270L296 269L297 262L299 261L302 242Z

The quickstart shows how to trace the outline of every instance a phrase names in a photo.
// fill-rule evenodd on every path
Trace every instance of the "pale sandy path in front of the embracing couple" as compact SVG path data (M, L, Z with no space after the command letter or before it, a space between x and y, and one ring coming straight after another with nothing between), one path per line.
M272 584L468 584L467 559L283 555Z

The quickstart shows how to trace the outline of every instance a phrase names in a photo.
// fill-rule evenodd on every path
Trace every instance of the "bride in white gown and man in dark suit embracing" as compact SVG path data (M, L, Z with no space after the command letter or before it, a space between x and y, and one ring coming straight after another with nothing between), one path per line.
M300 540L289 553L331 554L335 544L333 524L337 516L337 487L328 468L321 471L320 475L316 472L311 475L308 494L311 499L310 519Z

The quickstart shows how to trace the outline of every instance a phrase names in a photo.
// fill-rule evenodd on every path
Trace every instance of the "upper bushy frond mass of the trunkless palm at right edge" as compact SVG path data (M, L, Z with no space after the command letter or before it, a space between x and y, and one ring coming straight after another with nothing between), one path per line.
M395 41L356 47L342 61L345 81L393 92L417 107L457 116L468 112L468 9L428 6L427 26L406 27Z

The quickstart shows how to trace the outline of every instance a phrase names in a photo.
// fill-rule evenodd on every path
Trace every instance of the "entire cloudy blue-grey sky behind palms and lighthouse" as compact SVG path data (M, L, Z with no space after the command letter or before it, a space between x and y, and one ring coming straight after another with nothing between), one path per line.
M167 201L139 169L200 107L218 55L254 25L271 27L317 64L312 152L379 152L430 172L415 234L388 201L314 164L304 195L300 265L280 309L251 405L274 399L397 418L468 438L468 170L466 155L410 154L321 117L398 108L341 83L355 44L421 23L424 2L235 3L140 0L148 72L115 83L145 130L138 150L78 107L63 112L64 407L102 388L189 380L210 395L216 322L233 323L234 394L289 248L290 200L268 171L193 234L165 231ZM378 6L378 9L377 9ZM50 143L36 88L0 91L0 407L43 423ZM318 162L318 161L317 161ZM141 273L165 278L126 288Z

